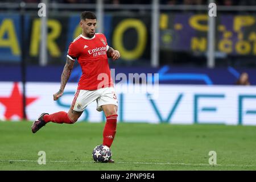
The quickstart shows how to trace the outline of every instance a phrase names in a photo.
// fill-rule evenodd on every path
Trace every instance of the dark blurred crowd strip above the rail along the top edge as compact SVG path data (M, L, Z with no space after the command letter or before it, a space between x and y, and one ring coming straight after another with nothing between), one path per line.
M41 0L2 0L1 2L40 3ZM108 4L150 4L152 0L103 0ZM96 3L97 0L48 0L55 3ZM208 0L159 0L162 5L207 5ZM217 5L256 6L256 0L215 0Z

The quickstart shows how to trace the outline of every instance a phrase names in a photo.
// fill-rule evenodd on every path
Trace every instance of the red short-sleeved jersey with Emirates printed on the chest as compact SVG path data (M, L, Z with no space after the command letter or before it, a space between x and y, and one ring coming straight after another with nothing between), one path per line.
M82 68L77 89L97 90L113 86L110 76L108 56L109 46L104 34L95 34L93 38L79 35L68 48L68 57L79 62Z

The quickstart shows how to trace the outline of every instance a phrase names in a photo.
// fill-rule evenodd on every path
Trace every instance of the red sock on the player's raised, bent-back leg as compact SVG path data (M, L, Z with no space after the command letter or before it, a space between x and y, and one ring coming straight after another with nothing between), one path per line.
M46 114L46 115L44 115L43 119L46 123L48 123L48 122L60 123L60 124L61 123L67 123L67 124L75 123L68 117L68 113L66 113L64 111L59 111L57 113L53 113L50 115Z

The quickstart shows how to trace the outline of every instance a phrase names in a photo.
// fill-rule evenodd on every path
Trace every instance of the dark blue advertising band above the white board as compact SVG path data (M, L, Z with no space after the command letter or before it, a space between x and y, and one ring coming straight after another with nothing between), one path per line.
M63 66L28 66L26 68L27 81L40 82L60 82ZM198 84L198 85L234 85L242 72L247 72L251 85L256 85L255 69L235 69L228 68L189 68L189 67L169 67L167 65L160 68L150 67L110 67L112 78L118 82L119 74L138 73L139 76L146 77L159 74L159 84ZM47 73L47 74L46 74ZM142 74L142 75L141 75ZM118 76L119 75L119 76ZM73 68L69 82L78 82L81 76L81 67L76 65ZM21 81L21 68L19 65L6 65L0 67L0 81ZM128 81L128 80L127 80Z

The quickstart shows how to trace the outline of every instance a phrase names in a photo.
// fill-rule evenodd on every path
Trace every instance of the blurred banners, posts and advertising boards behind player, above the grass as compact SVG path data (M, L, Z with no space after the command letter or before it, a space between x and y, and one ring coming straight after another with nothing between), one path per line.
M109 61L114 76L159 73L158 100L148 100L147 93L118 93L119 121L256 124L254 1L217 1L213 28L208 28L208 1L46 1L46 49L40 44L40 1L19 2L1 2L1 120L26 118L23 110L28 120L42 111L68 110L80 67L60 101L52 101L52 92L59 87L69 43L80 34L79 15L90 10L100 16L98 29L108 44L121 52L121 60ZM215 45L213 57L208 43ZM242 72L249 73L251 86L234 85ZM94 105L80 118L102 120Z

